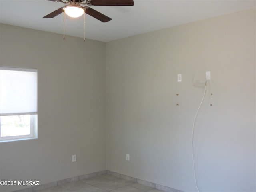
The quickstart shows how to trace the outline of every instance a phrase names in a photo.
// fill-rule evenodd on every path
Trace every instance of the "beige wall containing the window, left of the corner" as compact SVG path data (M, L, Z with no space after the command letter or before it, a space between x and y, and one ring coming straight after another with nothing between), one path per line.
M0 144L0 180L45 184L105 170L105 43L0 27L0 65L38 68L38 139Z

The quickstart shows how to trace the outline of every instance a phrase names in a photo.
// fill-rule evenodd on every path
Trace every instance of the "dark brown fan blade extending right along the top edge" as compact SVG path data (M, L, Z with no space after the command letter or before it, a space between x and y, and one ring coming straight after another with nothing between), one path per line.
M133 6L133 0L87 0L87 5L93 6Z

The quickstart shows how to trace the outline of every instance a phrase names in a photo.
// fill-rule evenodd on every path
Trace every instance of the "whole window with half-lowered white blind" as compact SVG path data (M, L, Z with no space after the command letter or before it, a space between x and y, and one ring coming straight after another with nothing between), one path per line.
M37 138L37 70L0 66L0 142Z

